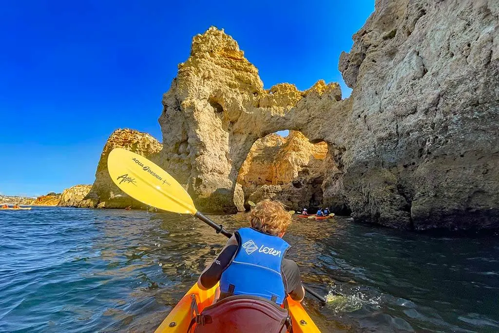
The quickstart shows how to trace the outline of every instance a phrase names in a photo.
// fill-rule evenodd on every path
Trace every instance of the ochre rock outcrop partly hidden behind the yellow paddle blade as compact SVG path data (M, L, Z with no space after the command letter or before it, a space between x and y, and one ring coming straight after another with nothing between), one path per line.
M124 208L132 206L133 208L141 208L144 206L123 193L109 176L107 157L114 148L125 148L152 159L162 149L162 146L158 140L147 133L133 129L115 130L107 140L100 156L95 182L78 207Z

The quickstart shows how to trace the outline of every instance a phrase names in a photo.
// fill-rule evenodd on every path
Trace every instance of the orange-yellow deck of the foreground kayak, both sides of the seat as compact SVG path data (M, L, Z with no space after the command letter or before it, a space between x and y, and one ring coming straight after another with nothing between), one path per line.
M191 309L193 298L196 298L199 312L201 312L204 308L212 305L217 287L218 284L212 289L204 291L199 289L197 284L194 284L179 303L177 303L175 308L173 308L163 323L156 329L155 333L187 332L191 319L194 317L194 312ZM293 301L290 297L287 298L287 302L293 333L320 332L300 303Z

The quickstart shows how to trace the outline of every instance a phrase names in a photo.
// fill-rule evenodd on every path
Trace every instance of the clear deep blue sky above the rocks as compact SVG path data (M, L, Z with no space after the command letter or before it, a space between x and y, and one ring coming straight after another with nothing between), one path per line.
M91 184L116 128L160 141L162 94L192 37L225 28L266 88L342 84L337 69L374 0L2 1L0 193Z

